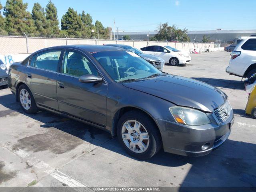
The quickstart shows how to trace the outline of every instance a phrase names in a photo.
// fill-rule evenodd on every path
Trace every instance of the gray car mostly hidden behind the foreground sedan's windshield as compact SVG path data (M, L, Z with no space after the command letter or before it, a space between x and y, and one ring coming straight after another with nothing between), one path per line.
M150 54L144 54L142 51L138 50L137 48L134 48L129 45L122 45L122 44L108 44L107 46L114 46L114 47L120 47L126 50L129 50L131 52L136 53L137 55L141 56L148 62L150 62L152 65L154 65L159 70L164 70L164 60L158 56L150 55Z

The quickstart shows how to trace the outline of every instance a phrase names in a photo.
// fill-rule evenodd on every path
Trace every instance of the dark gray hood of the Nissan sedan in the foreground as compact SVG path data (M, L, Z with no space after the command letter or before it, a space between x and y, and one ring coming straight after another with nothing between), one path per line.
M226 94L218 88L181 76L158 76L123 85L162 98L178 106L196 108L205 112L213 112L227 99Z

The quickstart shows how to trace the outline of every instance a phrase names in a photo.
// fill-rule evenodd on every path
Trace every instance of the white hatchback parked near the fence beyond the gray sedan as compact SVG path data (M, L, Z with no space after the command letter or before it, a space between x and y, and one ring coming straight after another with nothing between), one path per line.
M169 63L172 66L186 64L191 61L191 57L187 53L176 50L170 46L152 45L143 47L140 50L146 54L159 56L165 63Z

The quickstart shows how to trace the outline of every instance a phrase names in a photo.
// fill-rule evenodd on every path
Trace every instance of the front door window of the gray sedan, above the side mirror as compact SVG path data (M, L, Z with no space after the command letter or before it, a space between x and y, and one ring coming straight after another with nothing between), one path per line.
M65 52L62 73L76 77L86 74L98 76L96 67L83 54L72 51Z

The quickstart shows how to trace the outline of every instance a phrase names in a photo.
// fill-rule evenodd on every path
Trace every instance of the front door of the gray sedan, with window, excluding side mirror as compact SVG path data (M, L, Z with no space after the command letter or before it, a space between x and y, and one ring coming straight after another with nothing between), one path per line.
M108 85L103 82L79 82L79 77L85 74L99 75L85 54L66 50L57 80L59 110L70 116L106 126Z

